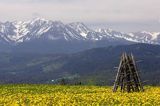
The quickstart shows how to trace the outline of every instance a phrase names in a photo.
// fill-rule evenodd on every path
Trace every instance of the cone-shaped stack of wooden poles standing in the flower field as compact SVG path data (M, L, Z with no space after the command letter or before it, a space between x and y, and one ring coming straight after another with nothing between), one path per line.
M126 53L123 53L121 56L113 92L116 92L118 87L120 87L122 92L143 91L143 86L132 54L127 55Z

